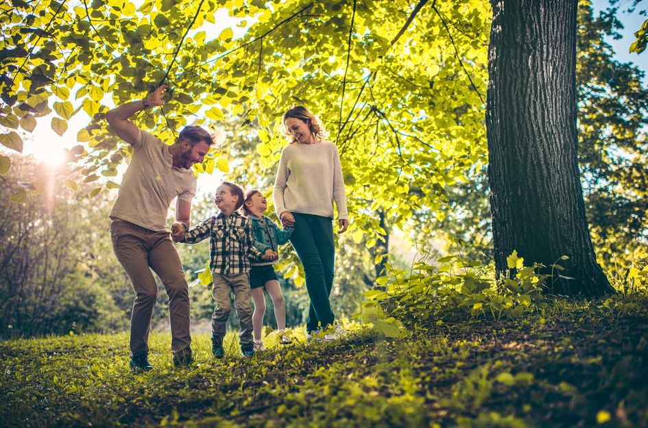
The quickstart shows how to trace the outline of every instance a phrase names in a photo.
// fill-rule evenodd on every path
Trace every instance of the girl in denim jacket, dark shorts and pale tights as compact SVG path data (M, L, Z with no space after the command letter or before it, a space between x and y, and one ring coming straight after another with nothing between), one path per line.
M288 344L291 339L286 335L286 307L283 301L283 294L274 273L273 264L278 260L279 245L288 242L293 227L280 229L274 221L263 215L267 210L267 200L259 190L248 189L243 195L243 214L252 221L252 236L254 247L259 249L269 261L251 261L250 289L252 290L252 301L254 301L254 314L252 314L252 325L254 329L254 351L265 351L263 339L261 338L261 327L263 327L263 316L265 315L265 295L263 289L267 290L272 304L274 305L274 316L277 319L277 333L282 344ZM273 261L274 260L274 261Z

